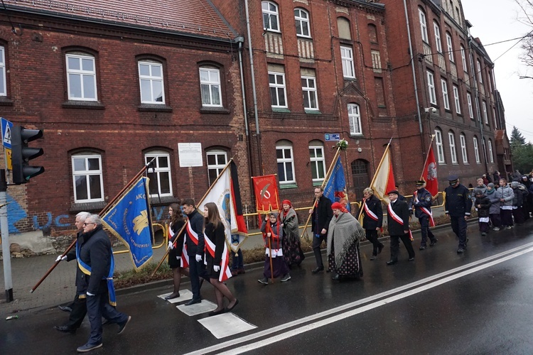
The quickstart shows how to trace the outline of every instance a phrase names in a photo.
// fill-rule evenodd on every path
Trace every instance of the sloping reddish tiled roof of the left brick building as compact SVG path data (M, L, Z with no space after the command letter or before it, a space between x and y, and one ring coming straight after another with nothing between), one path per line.
M210 0L4 0L11 11L232 39L237 32Z

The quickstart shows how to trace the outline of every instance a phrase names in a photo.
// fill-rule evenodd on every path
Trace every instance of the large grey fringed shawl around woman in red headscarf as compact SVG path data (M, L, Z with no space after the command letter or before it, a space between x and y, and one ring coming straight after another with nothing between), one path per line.
M364 233L361 224L349 213L340 213L338 217L331 219L328 229L328 255L331 254L333 243L337 268L343 265L350 246L359 243Z

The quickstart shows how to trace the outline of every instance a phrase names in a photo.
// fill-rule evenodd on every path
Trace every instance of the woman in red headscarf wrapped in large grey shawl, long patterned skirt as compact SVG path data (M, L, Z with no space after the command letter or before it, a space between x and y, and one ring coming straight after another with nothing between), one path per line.
M328 229L328 262L335 271L333 280L361 277L359 241L365 234L362 226L339 202L331 205L333 218Z

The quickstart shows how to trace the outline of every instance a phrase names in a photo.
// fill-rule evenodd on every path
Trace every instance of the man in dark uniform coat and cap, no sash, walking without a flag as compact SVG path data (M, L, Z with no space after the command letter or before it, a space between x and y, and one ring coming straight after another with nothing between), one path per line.
M466 220L470 217L470 210L472 209L472 199L470 191L464 185L461 185L457 175L448 176L448 183L450 184L444 189L444 209L446 215L450 217L451 229L453 233L459 238L458 254L462 254L466 250Z

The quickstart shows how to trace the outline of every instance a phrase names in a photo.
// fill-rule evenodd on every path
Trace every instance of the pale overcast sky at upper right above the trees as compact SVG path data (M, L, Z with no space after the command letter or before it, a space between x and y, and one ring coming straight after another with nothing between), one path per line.
M526 67L519 60L523 52L518 40L490 45L490 43L510 40L533 30L518 21L523 12L515 0L463 0L465 19L472 23L470 33L478 37L494 62L496 87L500 91L505 106L507 136L512 126L516 126L526 141L533 143L533 79L520 79L520 76L533 77L533 67ZM533 9L531 10L533 13ZM515 45L512 49L512 45ZM505 53L509 50L507 53ZM505 53L505 54L504 54ZM500 57L501 55L501 57ZM500 57L500 58L498 58Z

